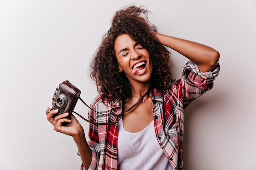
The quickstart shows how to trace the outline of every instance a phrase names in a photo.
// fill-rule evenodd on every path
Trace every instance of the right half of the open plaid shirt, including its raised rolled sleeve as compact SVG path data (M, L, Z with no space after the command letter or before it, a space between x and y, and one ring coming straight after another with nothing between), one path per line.
M154 90L153 116L155 133L173 170L183 170L184 109L194 99L213 87L213 80L220 71L219 64L214 71L202 73L198 66L189 61L184 66L181 79L173 79L163 93Z

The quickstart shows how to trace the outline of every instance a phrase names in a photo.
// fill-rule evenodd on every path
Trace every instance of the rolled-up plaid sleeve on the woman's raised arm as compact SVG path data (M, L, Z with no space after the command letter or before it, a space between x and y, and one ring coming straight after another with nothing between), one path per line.
M216 79L219 71L219 64L214 71L202 73L195 63L191 61L186 63L181 79L184 108L194 99L213 88L213 80Z

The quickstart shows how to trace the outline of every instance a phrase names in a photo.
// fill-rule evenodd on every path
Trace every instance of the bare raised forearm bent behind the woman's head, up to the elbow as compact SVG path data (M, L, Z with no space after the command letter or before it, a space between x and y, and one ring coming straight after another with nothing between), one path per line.
M202 72L213 71L218 64L219 52L209 46L159 33L155 35L159 43L193 61Z

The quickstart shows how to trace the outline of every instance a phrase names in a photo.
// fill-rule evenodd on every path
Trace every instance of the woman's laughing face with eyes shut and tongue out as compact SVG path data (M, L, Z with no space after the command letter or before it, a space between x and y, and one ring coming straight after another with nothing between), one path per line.
M153 64L148 50L132 40L127 34L121 34L117 37L114 48L119 71L124 71L130 84L150 80Z

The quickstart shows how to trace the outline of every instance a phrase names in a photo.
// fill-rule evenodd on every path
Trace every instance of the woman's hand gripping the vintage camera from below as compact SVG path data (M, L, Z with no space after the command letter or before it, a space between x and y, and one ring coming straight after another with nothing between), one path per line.
M49 107L45 110L45 113L47 115L47 120L54 126L54 130L56 132L61 132L72 137L79 135L79 131L83 132L83 127L76 119L76 117L74 117L74 115L71 115L71 120L67 119L67 116L69 115L68 113L63 113L61 115L53 117L56 113L58 113L58 109L51 110L49 112ZM68 124L66 126L63 126L62 124L64 122L67 122Z

